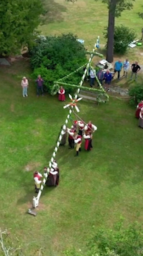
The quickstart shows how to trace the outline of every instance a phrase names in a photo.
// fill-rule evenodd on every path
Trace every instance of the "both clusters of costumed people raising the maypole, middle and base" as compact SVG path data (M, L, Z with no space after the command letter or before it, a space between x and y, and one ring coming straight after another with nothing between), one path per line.
M62 129L63 127L61 127ZM97 130L97 127L89 121L87 124L82 121L74 121L71 128L67 128L65 131L62 130L62 140L60 145L65 145L68 137L69 149L73 149L76 145L76 155L79 155L79 151L81 151L82 138L85 139L84 148L87 151L92 149L92 134ZM44 167L44 173L47 172L47 167ZM35 171L33 174L34 182L35 182L35 192L38 193L40 190L40 186L42 183L42 174L40 172ZM59 184L59 168L56 160L53 161L50 171L48 173L48 178L46 181L46 185L48 187L56 187Z

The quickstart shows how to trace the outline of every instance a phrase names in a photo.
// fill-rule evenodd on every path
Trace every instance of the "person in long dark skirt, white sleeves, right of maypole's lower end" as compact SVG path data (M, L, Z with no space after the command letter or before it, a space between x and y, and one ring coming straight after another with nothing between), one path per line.
M58 186L59 184L59 168L56 162L53 162L50 172L48 174L48 179L46 185L48 187Z

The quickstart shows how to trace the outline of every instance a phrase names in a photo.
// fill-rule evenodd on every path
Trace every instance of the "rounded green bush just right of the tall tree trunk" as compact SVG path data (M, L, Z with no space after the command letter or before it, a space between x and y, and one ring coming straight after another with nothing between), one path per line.
M104 37L108 38L107 28L104 32ZM134 30L125 27L124 25L116 26L114 30L114 52L124 54L127 50L128 44L136 37Z

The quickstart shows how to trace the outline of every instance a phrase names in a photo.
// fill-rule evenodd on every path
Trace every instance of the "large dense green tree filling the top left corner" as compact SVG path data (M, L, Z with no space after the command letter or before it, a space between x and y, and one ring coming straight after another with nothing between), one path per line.
M1 0L0 55L16 54L31 44L41 14L41 0Z

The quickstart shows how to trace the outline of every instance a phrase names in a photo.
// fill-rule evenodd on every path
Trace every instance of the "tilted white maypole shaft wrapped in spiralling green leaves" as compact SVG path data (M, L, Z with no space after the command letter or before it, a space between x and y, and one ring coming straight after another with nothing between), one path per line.
M90 59L88 60L88 63L87 63L87 65L86 65L86 69L85 69L85 71L84 71L84 74L82 75L79 88L77 89L77 91L76 91L76 93L75 93L75 95L74 95L74 99L72 99L72 103L71 103L71 105L70 105L69 113L68 113L68 115L67 115L67 118L65 119L63 128L62 128L62 130L61 130L61 133L60 133L59 138L58 138L58 141L57 141L57 144L56 144L56 146L55 146L55 148L54 148L54 150L53 150L53 154L52 154L51 160L50 160L50 162L49 162L49 165L48 165L48 168L47 168L47 172L44 174L44 179L43 179L43 181L42 181L42 184L41 184L40 190L39 190L39 192L38 192L38 195L37 195L37 197L33 197L33 207L34 207L34 208L38 207L38 205L39 205L39 199L40 199L41 193L42 193L42 191L43 191L43 189L44 189L44 186L45 186L45 183L46 183L48 174L49 174L50 169L51 169L51 167L52 167L53 161L54 161L54 159L55 159L55 157L56 157L57 151L58 151L58 149L59 149L59 145L60 145L60 142L61 142L61 140L62 140L62 135L64 134L64 132L65 132L65 130L66 130L67 124L68 124L68 122L69 122L69 118L70 118L70 116L71 116L71 113L73 112L74 106L76 105L74 102L77 101L78 94L79 94L79 92L80 92L80 87L82 86L82 84L83 84L83 82L84 82L84 79L85 79L85 76L86 76L86 73L87 73L87 70L88 70L88 68L90 67L90 63L91 63L91 60L92 60L92 58L93 58L93 56L94 56L95 49L96 49L96 43L95 43L95 46L94 46L94 48L93 48L93 51L92 51L92 53L91 53L91 55L90 55ZM65 108L65 107L64 107L64 108Z

